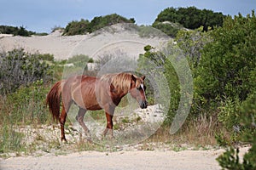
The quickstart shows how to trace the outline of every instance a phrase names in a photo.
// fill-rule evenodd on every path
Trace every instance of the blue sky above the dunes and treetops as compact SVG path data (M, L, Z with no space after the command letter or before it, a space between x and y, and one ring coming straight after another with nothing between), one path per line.
M138 25L151 25L167 7L212 9L223 14L251 14L255 0L0 0L0 25L25 26L27 30L50 32L72 20L120 14L135 18Z

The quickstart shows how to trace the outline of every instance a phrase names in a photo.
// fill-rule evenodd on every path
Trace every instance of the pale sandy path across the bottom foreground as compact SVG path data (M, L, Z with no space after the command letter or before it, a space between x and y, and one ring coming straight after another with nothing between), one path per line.
M223 150L84 151L67 156L11 157L1 169L220 169L215 160Z

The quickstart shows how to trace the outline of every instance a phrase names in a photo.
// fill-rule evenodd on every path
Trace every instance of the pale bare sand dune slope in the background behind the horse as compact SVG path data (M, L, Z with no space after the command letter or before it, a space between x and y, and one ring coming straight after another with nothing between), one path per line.
M24 48L30 53L54 54L55 59L67 59L75 54L86 54L96 59L102 55L99 54L99 50L101 53L119 51L121 54L132 54L138 57L138 54L143 53L145 45L158 47L170 39L165 35L155 36L154 28L148 28L152 29L152 36L150 36L151 33L140 36L142 31L133 26L133 24L118 24L77 36L61 36L60 30L47 36L11 37L0 34L0 48L5 51Z

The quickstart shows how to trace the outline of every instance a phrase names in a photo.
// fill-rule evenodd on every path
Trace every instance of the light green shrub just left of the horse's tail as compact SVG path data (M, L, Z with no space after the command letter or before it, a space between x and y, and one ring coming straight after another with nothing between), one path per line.
M9 112L9 122L29 124L49 121L49 111L44 104L48 91L43 80L38 80L9 94L6 98L9 108L5 109Z

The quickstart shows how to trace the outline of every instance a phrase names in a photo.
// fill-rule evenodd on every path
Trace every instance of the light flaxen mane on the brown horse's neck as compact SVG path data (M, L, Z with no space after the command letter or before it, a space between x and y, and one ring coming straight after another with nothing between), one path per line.
M117 92L128 92L131 88L131 73L106 74L100 80L112 84Z

